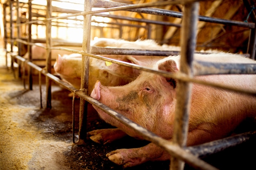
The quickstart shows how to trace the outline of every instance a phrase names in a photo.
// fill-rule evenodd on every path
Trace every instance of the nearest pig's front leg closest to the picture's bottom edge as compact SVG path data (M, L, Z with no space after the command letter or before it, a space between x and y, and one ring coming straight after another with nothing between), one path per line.
M136 166L146 161L164 161L170 155L154 143L141 148L117 149L106 155L110 161L122 165L124 168Z

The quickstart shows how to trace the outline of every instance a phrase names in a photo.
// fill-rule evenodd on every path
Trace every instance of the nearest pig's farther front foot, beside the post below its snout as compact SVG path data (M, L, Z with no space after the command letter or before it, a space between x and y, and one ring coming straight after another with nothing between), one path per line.
M122 137L126 136L127 134L123 131L117 129L98 129L95 131L88 132L88 136L94 142L98 144L107 144L111 143L117 139L121 139Z

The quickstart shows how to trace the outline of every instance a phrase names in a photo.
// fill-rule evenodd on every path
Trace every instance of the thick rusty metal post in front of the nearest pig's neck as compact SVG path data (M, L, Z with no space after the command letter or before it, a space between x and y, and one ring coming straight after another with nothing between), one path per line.
M195 50L198 8L199 2L185 4L182 19L180 72L189 76L193 76L191 66ZM184 81L179 81L177 85L173 143L181 147L186 146L187 141L191 87L191 83ZM174 157L171 158L171 170L181 170L183 166L183 161Z

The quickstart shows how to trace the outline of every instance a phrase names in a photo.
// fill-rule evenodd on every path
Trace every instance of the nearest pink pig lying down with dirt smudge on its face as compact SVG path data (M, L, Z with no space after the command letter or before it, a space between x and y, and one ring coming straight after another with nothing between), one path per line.
M198 61L254 63L256 61L236 54L194 54ZM170 56L157 61L154 69L172 73L179 72L180 56ZM256 75L204 75L199 80L232 85L255 91ZM124 86L106 87L95 83L91 97L121 113L133 122L156 135L172 140L175 116L176 89L179 82L149 72L141 72ZM107 113L95 107L99 116L117 129L99 129L88 132L97 143L110 143L130 135L142 137ZM256 97L193 83L190 102L189 132L187 146L210 142L229 136L245 118L255 118ZM106 154L110 161L125 167L136 166L146 161L163 161L170 155L154 143L140 148L117 149Z

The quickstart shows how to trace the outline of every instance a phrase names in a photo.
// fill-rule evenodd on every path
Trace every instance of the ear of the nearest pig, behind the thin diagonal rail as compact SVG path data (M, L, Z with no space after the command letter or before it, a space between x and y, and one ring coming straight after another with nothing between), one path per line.
M158 65L159 70L164 70L167 72L177 72L179 69L177 68L177 63L174 60L167 60ZM166 81L173 86L173 89L176 87L176 81L173 78L166 78Z

